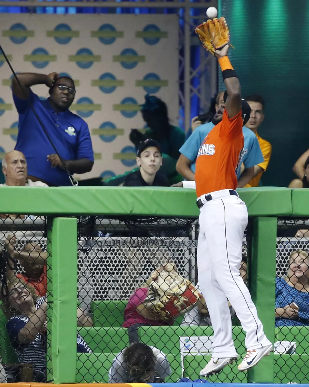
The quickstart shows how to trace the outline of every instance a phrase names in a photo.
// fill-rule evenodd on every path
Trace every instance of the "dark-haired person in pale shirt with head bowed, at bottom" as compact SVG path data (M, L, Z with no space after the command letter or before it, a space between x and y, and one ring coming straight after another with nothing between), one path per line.
M116 355L109 370L109 383L164 383L171 373L163 352L137 342Z

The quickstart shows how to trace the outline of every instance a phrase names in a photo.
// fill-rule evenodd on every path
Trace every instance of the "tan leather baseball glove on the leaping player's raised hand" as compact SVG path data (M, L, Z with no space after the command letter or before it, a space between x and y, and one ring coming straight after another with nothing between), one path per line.
M212 55L215 55L216 51L220 51L225 46L230 46L230 32L224 17L207 20L207 22L204 22L195 28L195 33L199 36L203 47L211 52ZM225 51L226 50L224 50L224 55L227 54L227 51ZM215 56L218 57L217 55Z

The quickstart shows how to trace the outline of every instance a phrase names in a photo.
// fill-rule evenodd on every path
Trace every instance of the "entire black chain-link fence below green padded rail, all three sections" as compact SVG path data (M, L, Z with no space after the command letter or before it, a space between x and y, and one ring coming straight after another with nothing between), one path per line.
M198 379L211 358L213 331L199 292L197 219L77 221L76 382ZM49 224L29 216L0 221L0 354L10 382L53 380ZM278 220L274 382L308 382L307 229L304 220ZM249 222L240 267L249 287L251 236ZM235 347L243 356L245 334L230 310ZM207 380L247 382L247 374L234 364Z

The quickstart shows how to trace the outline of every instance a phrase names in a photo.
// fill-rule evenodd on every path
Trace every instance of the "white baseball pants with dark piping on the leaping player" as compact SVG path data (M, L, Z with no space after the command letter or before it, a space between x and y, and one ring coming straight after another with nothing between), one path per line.
M199 199L200 233L197 246L199 287L214 329L212 357L238 356L232 340L231 315L227 298L246 332L247 350L271 344L257 317L249 290L240 277L242 240L248 222L245 203L230 190L211 193L212 200Z

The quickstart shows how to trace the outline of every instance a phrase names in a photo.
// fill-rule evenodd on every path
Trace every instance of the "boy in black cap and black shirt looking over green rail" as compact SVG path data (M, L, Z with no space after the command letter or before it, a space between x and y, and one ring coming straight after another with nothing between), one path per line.
M158 172L162 165L159 142L147 139L138 146L136 163L140 167L126 176L124 187L168 187L169 181L164 173Z

